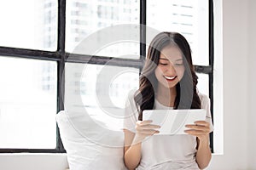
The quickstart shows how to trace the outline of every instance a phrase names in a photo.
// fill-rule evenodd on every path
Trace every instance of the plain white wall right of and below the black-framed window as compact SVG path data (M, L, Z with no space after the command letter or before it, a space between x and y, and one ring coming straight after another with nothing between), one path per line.
M256 68L256 1L214 2L219 5L218 9L223 8L223 37L218 37L220 43L223 40L223 47L217 50L223 48L224 155L212 156L207 169L256 169L256 111L253 107L256 99L253 74ZM0 155L0 168L4 170L63 170L66 167L65 155Z

